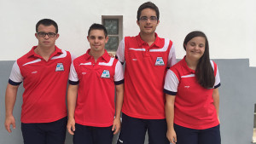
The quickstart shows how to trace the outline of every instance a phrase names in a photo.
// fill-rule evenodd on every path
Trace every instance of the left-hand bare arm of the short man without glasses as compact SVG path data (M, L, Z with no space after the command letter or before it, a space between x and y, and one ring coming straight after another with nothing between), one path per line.
M67 131L71 135L74 135L73 131L75 131L74 111L76 107L78 89L79 89L79 85L72 85L72 84L69 84L67 89L67 110L68 110Z

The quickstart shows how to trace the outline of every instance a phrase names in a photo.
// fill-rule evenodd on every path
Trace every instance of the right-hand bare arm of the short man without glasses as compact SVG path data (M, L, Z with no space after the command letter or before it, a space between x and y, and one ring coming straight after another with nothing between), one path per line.
M115 86L116 88L116 109L115 109L115 118L113 119L112 131L113 135L117 134L121 128L121 109L123 106L124 100L124 84L119 84Z

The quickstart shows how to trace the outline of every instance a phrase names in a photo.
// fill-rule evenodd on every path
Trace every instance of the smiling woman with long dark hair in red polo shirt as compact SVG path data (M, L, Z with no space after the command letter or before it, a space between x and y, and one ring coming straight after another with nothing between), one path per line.
M220 144L218 66L203 32L190 32L186 55L166 73L167 138L177 144Z

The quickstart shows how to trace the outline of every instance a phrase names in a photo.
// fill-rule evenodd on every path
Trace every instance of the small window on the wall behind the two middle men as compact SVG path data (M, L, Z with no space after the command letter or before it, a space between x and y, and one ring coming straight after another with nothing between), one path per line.
M115 53L123 38L123 16L102 15L102 25L106 27L109 37L105 49Z

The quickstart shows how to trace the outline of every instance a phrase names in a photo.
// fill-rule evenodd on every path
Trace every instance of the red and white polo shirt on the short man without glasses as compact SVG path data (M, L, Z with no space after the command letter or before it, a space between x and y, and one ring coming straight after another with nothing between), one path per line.
M79 84L75 121L77 124L108 127L113 124L115 84L124 83L124 70L119 60L105 50L95 59L86 54L73 60L69 84Z

